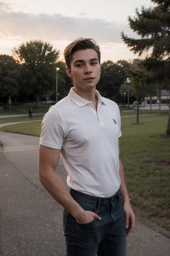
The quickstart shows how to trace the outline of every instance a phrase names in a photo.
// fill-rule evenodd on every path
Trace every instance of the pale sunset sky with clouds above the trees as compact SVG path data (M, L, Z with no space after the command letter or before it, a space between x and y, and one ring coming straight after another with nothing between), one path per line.
M41 39L60 50L78 37L93 38L101 48L101 62L138 58L121 39L135 9L153 6L150 0L3 0L0 1L0 54L12 54L22 42Z

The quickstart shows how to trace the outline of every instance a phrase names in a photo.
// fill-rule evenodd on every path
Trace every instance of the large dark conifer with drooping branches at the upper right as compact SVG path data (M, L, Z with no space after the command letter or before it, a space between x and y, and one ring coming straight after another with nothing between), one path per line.
M151 1L156 4L153 8L142 6L134 18L128 17L129 27L141 39L129 38L123 32L122 39L135 54L148 53L142 65L152 74L150 81L162 86L162 81L170 84L170 1ZM166 136L170 136L170 112Z

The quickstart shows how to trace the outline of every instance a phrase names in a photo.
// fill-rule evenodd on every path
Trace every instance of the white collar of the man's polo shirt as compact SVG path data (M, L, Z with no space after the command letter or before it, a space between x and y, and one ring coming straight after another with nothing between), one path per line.
M86 104L88 104L90 101L83 99L82 97L80 97L75 91L74 91L74 87L71 87L70 89L70 93L69 93L69 98L79 107L83 107ZM105 102L105 98L101 97L100 93L96 90L96 96L98 98L98 103L101 103L103 105L107 105Z

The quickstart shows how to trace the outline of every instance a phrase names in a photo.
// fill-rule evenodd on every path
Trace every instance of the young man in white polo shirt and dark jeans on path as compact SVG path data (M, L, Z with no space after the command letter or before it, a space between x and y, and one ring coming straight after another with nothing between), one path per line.
M75 40L64 57L74 87L43 118L39 180L64 207L67 256L125 256L134 214L119 158L119 108L96 90L100 48L95 41ZM55 173L60 152L70 192Z

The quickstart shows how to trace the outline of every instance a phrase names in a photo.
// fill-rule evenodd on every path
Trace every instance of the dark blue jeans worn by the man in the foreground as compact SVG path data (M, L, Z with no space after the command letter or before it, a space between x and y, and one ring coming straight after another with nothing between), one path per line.
M119 190L109 198L89 196L74 189L70 193L84 210L95 212L101 220L79 224L64 209L63 229L67 256L125 256L125 212Z

